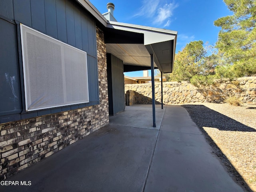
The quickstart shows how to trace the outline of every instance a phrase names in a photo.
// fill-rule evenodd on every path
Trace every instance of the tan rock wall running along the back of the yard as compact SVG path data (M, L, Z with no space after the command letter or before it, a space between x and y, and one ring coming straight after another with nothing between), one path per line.
M152 103L151 83L126 84L125 92L134 91L135 103ZM156 104L161 102L161 84L155 83ZM216 80L211 86L193 86L190 82L164 82L164 104L194 102L222 103L228 96L238 96L244 103L256 104L256 77L238 78L234 81Z

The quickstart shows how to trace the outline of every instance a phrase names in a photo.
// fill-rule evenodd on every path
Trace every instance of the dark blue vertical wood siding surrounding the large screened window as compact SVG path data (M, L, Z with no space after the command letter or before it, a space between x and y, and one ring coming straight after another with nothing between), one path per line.
M87 52L89 103L24 112L19 23ZM1 0L0 29L0 123L99 104L96 23L78 2Z

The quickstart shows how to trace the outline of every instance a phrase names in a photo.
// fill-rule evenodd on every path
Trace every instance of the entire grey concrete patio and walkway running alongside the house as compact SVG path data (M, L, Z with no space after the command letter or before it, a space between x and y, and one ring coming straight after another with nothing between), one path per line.
M135 105L110 125L7 179L14 192L243 192L181 106Z

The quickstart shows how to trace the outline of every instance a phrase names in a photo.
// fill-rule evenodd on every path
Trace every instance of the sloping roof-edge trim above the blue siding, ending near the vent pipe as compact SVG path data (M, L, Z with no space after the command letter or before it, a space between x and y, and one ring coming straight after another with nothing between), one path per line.
M98 11L96 7L89 0L76 0L79 2L86 10L88 10L96 19L105 27L108 24L108 20Z

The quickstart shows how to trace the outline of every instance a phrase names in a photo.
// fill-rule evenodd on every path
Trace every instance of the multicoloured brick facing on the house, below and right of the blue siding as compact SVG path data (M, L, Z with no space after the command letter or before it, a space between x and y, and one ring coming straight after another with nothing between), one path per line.
M109 123L106 46L103 32L96 31L100 104L0 124L0 180Z

